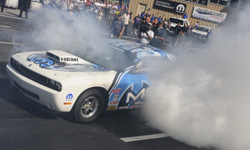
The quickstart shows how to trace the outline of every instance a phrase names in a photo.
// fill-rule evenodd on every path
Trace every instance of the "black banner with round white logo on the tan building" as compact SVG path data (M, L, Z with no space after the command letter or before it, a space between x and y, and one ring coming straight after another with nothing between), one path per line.
M155 0L153 8L177 14L184 14L186 10L186 4L169 0Z

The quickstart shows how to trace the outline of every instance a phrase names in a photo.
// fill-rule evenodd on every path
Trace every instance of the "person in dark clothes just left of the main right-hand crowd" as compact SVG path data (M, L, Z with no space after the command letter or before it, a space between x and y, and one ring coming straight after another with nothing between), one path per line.
M119 13L117 18L113 20L112 25L110 27L111 37L114 36L119 38L122 35L124 29L125 29L125 24L122 19L122 14Z

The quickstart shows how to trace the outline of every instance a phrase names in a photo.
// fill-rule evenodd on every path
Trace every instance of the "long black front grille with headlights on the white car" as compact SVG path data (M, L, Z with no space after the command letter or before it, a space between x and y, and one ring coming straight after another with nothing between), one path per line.
M49 81L50 79L45 77L45 76L42 76L32 70L29 70L28 68L24 67L22 64L20 64L19 62L17 62L14 58L11 57L11 60L10 60L10 65L17 71L19 72L20 74L22 74L23 76L41 84L41 85L44 85L48 88L51 88L53 90L56 90L56 91L61 91L61 90L58 90L57 88L55 88L54 86L51 86L49 84Z

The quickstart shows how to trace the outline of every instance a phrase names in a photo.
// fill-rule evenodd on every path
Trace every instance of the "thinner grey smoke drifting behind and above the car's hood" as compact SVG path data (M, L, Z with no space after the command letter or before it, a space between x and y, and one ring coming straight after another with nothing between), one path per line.
M24 30L13 36L14 42L23 43L26 47L14 47L12 53L51 49L83 53L102 49L99 40L104 37L104 25L97 27L95 17L41 8L30 18Z

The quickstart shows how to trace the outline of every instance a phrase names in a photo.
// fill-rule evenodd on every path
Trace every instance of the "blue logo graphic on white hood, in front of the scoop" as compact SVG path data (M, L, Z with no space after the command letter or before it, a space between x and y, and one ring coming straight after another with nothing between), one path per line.
M45 68L48 66L52 66L54 61L48 58L42 58L37 55L31 55L27 58L28 61L33 61L35 64L39 64L40 67Z

